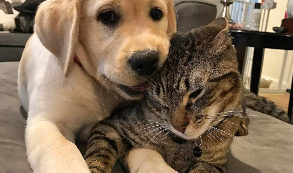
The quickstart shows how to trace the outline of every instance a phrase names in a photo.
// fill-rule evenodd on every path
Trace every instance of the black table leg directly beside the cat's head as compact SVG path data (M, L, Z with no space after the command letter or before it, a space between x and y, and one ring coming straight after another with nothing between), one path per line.
M237 50L237 62L238 70L243 75L245 69L246 61L246 44L247 44L247 35L246 34L235 34L234 35L234 45Z

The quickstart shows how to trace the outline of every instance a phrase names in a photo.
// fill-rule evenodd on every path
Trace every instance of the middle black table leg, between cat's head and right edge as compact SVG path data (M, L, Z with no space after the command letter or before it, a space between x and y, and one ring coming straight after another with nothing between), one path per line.
M250 91L258 95L258 88L260 85L260 74L263 66L263 48L254 48Z

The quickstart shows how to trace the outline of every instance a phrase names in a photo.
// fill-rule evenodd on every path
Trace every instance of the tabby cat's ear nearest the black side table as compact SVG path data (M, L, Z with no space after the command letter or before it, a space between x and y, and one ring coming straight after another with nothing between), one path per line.
M228 20L226 18L218 18L211 22L208 26L216 27L220 29L220 32L216 35L212 42L212 51L214 54L226 51L228 46L231 46L231 34L228 27Z

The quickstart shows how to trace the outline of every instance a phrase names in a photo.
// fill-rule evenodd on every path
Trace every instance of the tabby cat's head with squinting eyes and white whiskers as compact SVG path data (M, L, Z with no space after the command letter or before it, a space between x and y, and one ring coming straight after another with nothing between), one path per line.
M147 101L169 129L197 138L233 111L242 99L238 72L225 18L173 36L169 57L153 76Z

